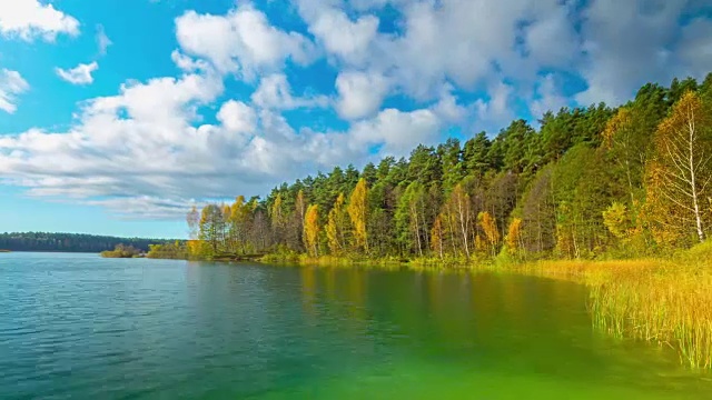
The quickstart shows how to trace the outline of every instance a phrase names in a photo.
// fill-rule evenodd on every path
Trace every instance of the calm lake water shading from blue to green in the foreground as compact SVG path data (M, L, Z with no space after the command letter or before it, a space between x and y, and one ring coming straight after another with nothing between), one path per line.
M0 256L0 399L712 399L540 278Z

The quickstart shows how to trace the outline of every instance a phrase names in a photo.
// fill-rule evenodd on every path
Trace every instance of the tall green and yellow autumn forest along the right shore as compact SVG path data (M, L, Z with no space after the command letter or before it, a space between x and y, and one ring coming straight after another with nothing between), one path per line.
M197 258L634 257L712 228L712 73L188 214Z

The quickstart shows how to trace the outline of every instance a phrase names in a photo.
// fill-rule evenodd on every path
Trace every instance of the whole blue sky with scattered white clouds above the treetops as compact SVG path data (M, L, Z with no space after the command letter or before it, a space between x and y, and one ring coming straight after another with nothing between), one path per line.
M703 0L2 1L0 231L182 238L192 203L710 66Z

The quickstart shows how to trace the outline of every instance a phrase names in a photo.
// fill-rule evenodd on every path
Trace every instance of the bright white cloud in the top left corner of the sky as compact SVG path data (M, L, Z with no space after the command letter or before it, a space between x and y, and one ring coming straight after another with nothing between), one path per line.
M59 33L79 34L79 21L38 0L0 1L0 33L30 41L53 41Z

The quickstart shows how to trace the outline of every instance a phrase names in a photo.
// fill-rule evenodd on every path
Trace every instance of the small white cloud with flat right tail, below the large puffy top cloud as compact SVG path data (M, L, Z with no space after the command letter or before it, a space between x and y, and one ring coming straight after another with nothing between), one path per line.
M284 73L273 73L264 77L251 99L259 107L279 110L328 106L328 98L325 96L293 97L291 87Z

